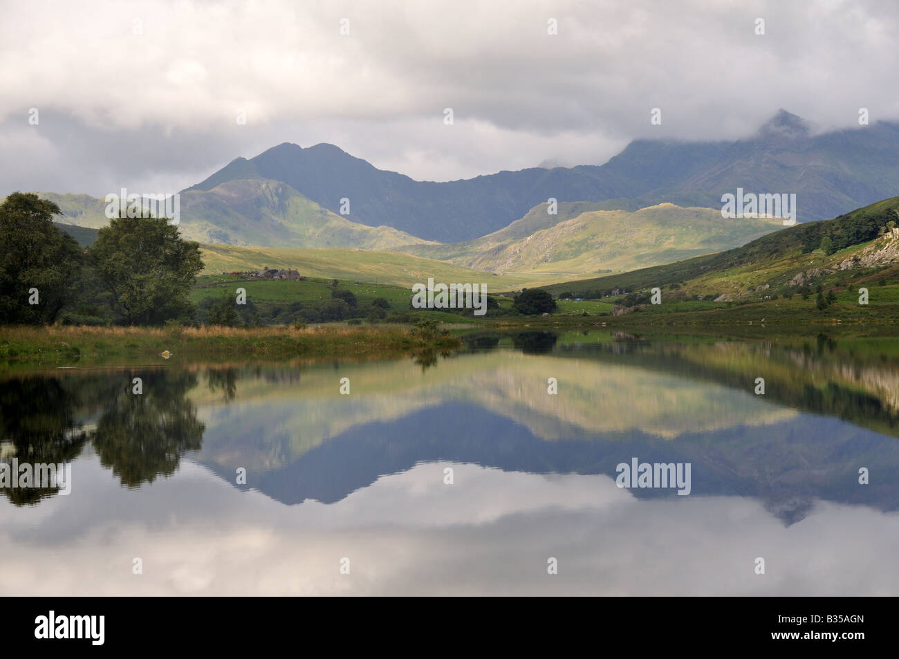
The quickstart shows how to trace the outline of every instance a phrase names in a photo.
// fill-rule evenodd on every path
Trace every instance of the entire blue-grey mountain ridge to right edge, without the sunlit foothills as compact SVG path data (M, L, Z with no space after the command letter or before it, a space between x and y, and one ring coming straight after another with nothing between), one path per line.
M670 201L720 208L721 195L795 192L800 221L832 218L896 193L899 124L885 121L814 135L779 111L750 138L720 142L640 139L605 165L532 167L445 183L379 170L338 147L284 143L237 158L188 191L263 178L287 183L325 209L370 227L395 227L441 242L486 236L550 198L628 200L628 209Z

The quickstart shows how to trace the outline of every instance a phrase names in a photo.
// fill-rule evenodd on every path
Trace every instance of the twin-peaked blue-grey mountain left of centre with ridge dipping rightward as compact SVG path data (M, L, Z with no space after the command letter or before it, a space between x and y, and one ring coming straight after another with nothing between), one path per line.
M284 143L250 160L237 158L187 191L209 191L250 175L287 183L309 199L369 227L384 225L428 240L455 241L483 236L521 218L549 197L602 200L629 197L638 189L624 182L599 181L596 167L546 170L538 167L474 179L433 183L377 169L330 144L302 148Z

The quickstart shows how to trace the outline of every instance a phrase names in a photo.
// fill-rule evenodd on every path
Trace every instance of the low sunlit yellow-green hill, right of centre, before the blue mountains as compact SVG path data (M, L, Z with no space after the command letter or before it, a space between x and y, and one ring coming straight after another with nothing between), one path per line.
M670 203L634 212L594 209L598 205L560 204L559 216L552 216L543 204L483 238L399 249L476 270L585 274L718 252L782 226L780 219L725 219L719 210Z

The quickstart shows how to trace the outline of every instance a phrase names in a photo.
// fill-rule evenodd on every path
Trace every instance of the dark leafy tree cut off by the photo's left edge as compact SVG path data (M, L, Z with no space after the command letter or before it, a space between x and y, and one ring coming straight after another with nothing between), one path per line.
M0 205L0 323L52 323L75 301L84 251L53 226L61 212L31 192Z

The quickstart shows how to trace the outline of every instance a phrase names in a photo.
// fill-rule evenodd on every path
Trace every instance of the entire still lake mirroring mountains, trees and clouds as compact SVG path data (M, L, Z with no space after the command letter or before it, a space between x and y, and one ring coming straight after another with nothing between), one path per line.
M896 595L895 343L7 375L4 462L71 476L0 490L0 592Z

